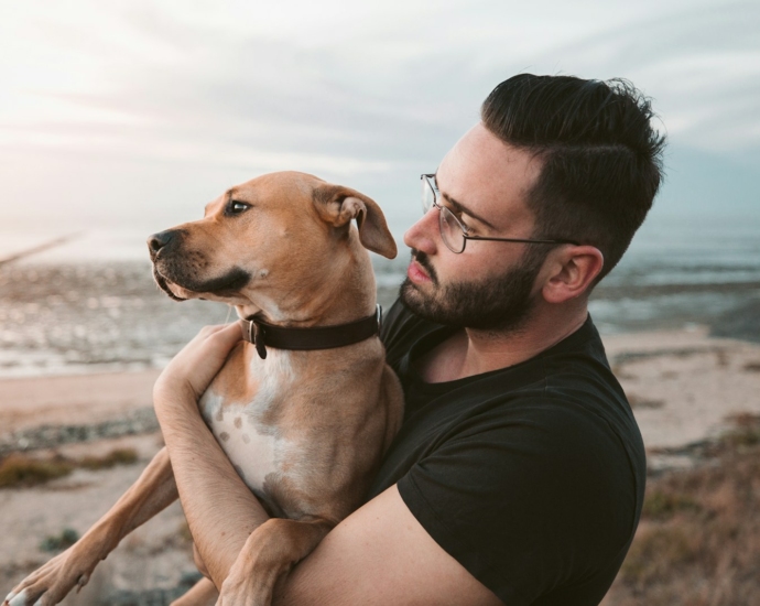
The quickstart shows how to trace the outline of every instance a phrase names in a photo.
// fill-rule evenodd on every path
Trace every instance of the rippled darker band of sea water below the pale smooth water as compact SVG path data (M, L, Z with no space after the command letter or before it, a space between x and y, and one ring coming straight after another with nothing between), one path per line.
M760 343L757 263L726 261L723 271L673 262L632 263L599 284L589 310L602 335L705 325L716 337ZM378 261L386 310L404 264ZM229 318L220 303L171 301L149 270L146 262L0 267L0 378L162 368L202 326Z

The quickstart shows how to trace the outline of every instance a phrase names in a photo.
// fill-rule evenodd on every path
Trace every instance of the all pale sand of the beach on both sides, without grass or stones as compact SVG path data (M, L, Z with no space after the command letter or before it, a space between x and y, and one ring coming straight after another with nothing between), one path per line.
M727 419L760 414L760 346L709 338L706 328L604 337L610 364L633 405L652 467L688 465L665 456L724 431ZM88 424L122 418L150 405L156 371L80 375L0 381L0 437L41 424ZM3 541L0 593L50 558L42 539L70 527L83 533L139 476L161 447L160 434L142 434L61 446L67 456L104 454L130 446L134 465L77 470L43 487L0 490ZM44 454L44 453L41 453ZM113 588L173 586L194 570L182 539L178 504L122 542L99 567L89 593L65 604L94 604L93 595ZM89 597L88 597L89 596ZM1 596L0 596L1 597Z

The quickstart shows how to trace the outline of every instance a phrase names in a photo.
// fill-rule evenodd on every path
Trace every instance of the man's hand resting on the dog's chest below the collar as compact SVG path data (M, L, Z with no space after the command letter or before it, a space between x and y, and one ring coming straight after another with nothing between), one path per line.
M155 381L153 403L187 407L197 402L227 360L232 347L242 339L240 323L205 326Z

